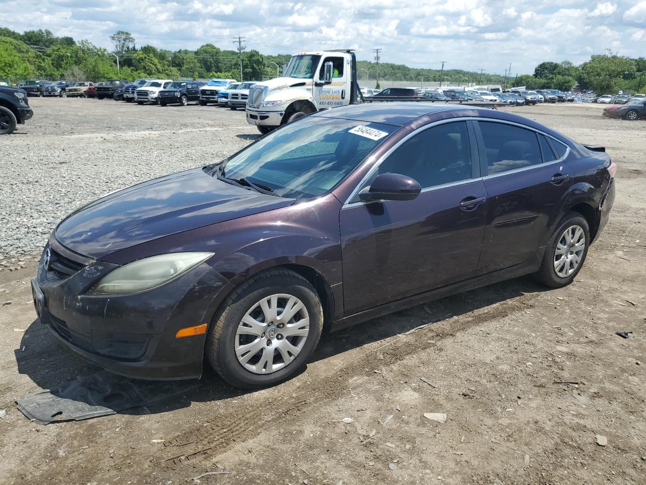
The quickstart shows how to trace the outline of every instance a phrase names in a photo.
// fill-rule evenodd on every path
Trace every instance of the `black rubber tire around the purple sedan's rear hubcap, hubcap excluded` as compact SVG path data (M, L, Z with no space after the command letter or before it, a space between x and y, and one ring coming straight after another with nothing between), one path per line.
M554 269L554 263L556 261L556 246L561 241L565 230L573 226L579 226L583 229L583 235L585 236L585 248L580 257L578 266L572 271L571 274L568 274L565 277L561 277L556 274ZM569 211L563 216L561 222L556 226L556 230L552 233L550 241L547 244L545 249L545 254L543 255L543 261L541 261L541 268L534 274L534 279L543 285L550 286L550 288L561 288L572 283L572 280L579 274L583 264L585 263L585 257L588 254L588 248L590 247L590 227L588 221L585 217L578 212ZM570 252L572 254L572 252Z

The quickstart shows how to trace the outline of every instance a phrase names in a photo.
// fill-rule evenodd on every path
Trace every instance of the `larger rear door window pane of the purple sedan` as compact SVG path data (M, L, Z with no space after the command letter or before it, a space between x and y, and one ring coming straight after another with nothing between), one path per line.
M485 143L488 175L543 163L534 131L496 122L478 122Z

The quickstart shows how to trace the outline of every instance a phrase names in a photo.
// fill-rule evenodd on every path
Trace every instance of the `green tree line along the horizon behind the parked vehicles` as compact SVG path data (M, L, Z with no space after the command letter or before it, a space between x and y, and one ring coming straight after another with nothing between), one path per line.
M136 78L240 78L240 54L207 43L196 50L165 50L152 45L137 47L129 32L110 36L114 50L89 41L57 37L50 30L27 30L20 34L0 28L0 80L18 83L28 78L47 80L100 81ZM117 64L117 58L119 64ZM263 80L276 76L290 55L266 56L258 50L242 52L242 79ZM410 81L412 85L443 81L450 85L525 85L528 89L579 89L599 94L643 91L646 59L618 56L607 51L581 65L570 61L543 62L534 74L505 77L461 69L415 69L402 64L357 61L359 81Z

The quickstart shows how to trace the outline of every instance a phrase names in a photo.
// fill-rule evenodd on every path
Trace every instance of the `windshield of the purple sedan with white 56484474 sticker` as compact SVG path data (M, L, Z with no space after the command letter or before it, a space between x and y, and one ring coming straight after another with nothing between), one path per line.
M289 198L327 193L397 127L310 116L227 160L220 177L242 178Z

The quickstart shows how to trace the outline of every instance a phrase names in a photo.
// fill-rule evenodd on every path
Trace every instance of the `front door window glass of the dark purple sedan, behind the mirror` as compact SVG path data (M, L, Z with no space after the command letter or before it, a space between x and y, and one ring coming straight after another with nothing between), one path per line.
M423 188L468 180L472 175L471 147L465 122L446 123L413 136L377 169L401 173Z

